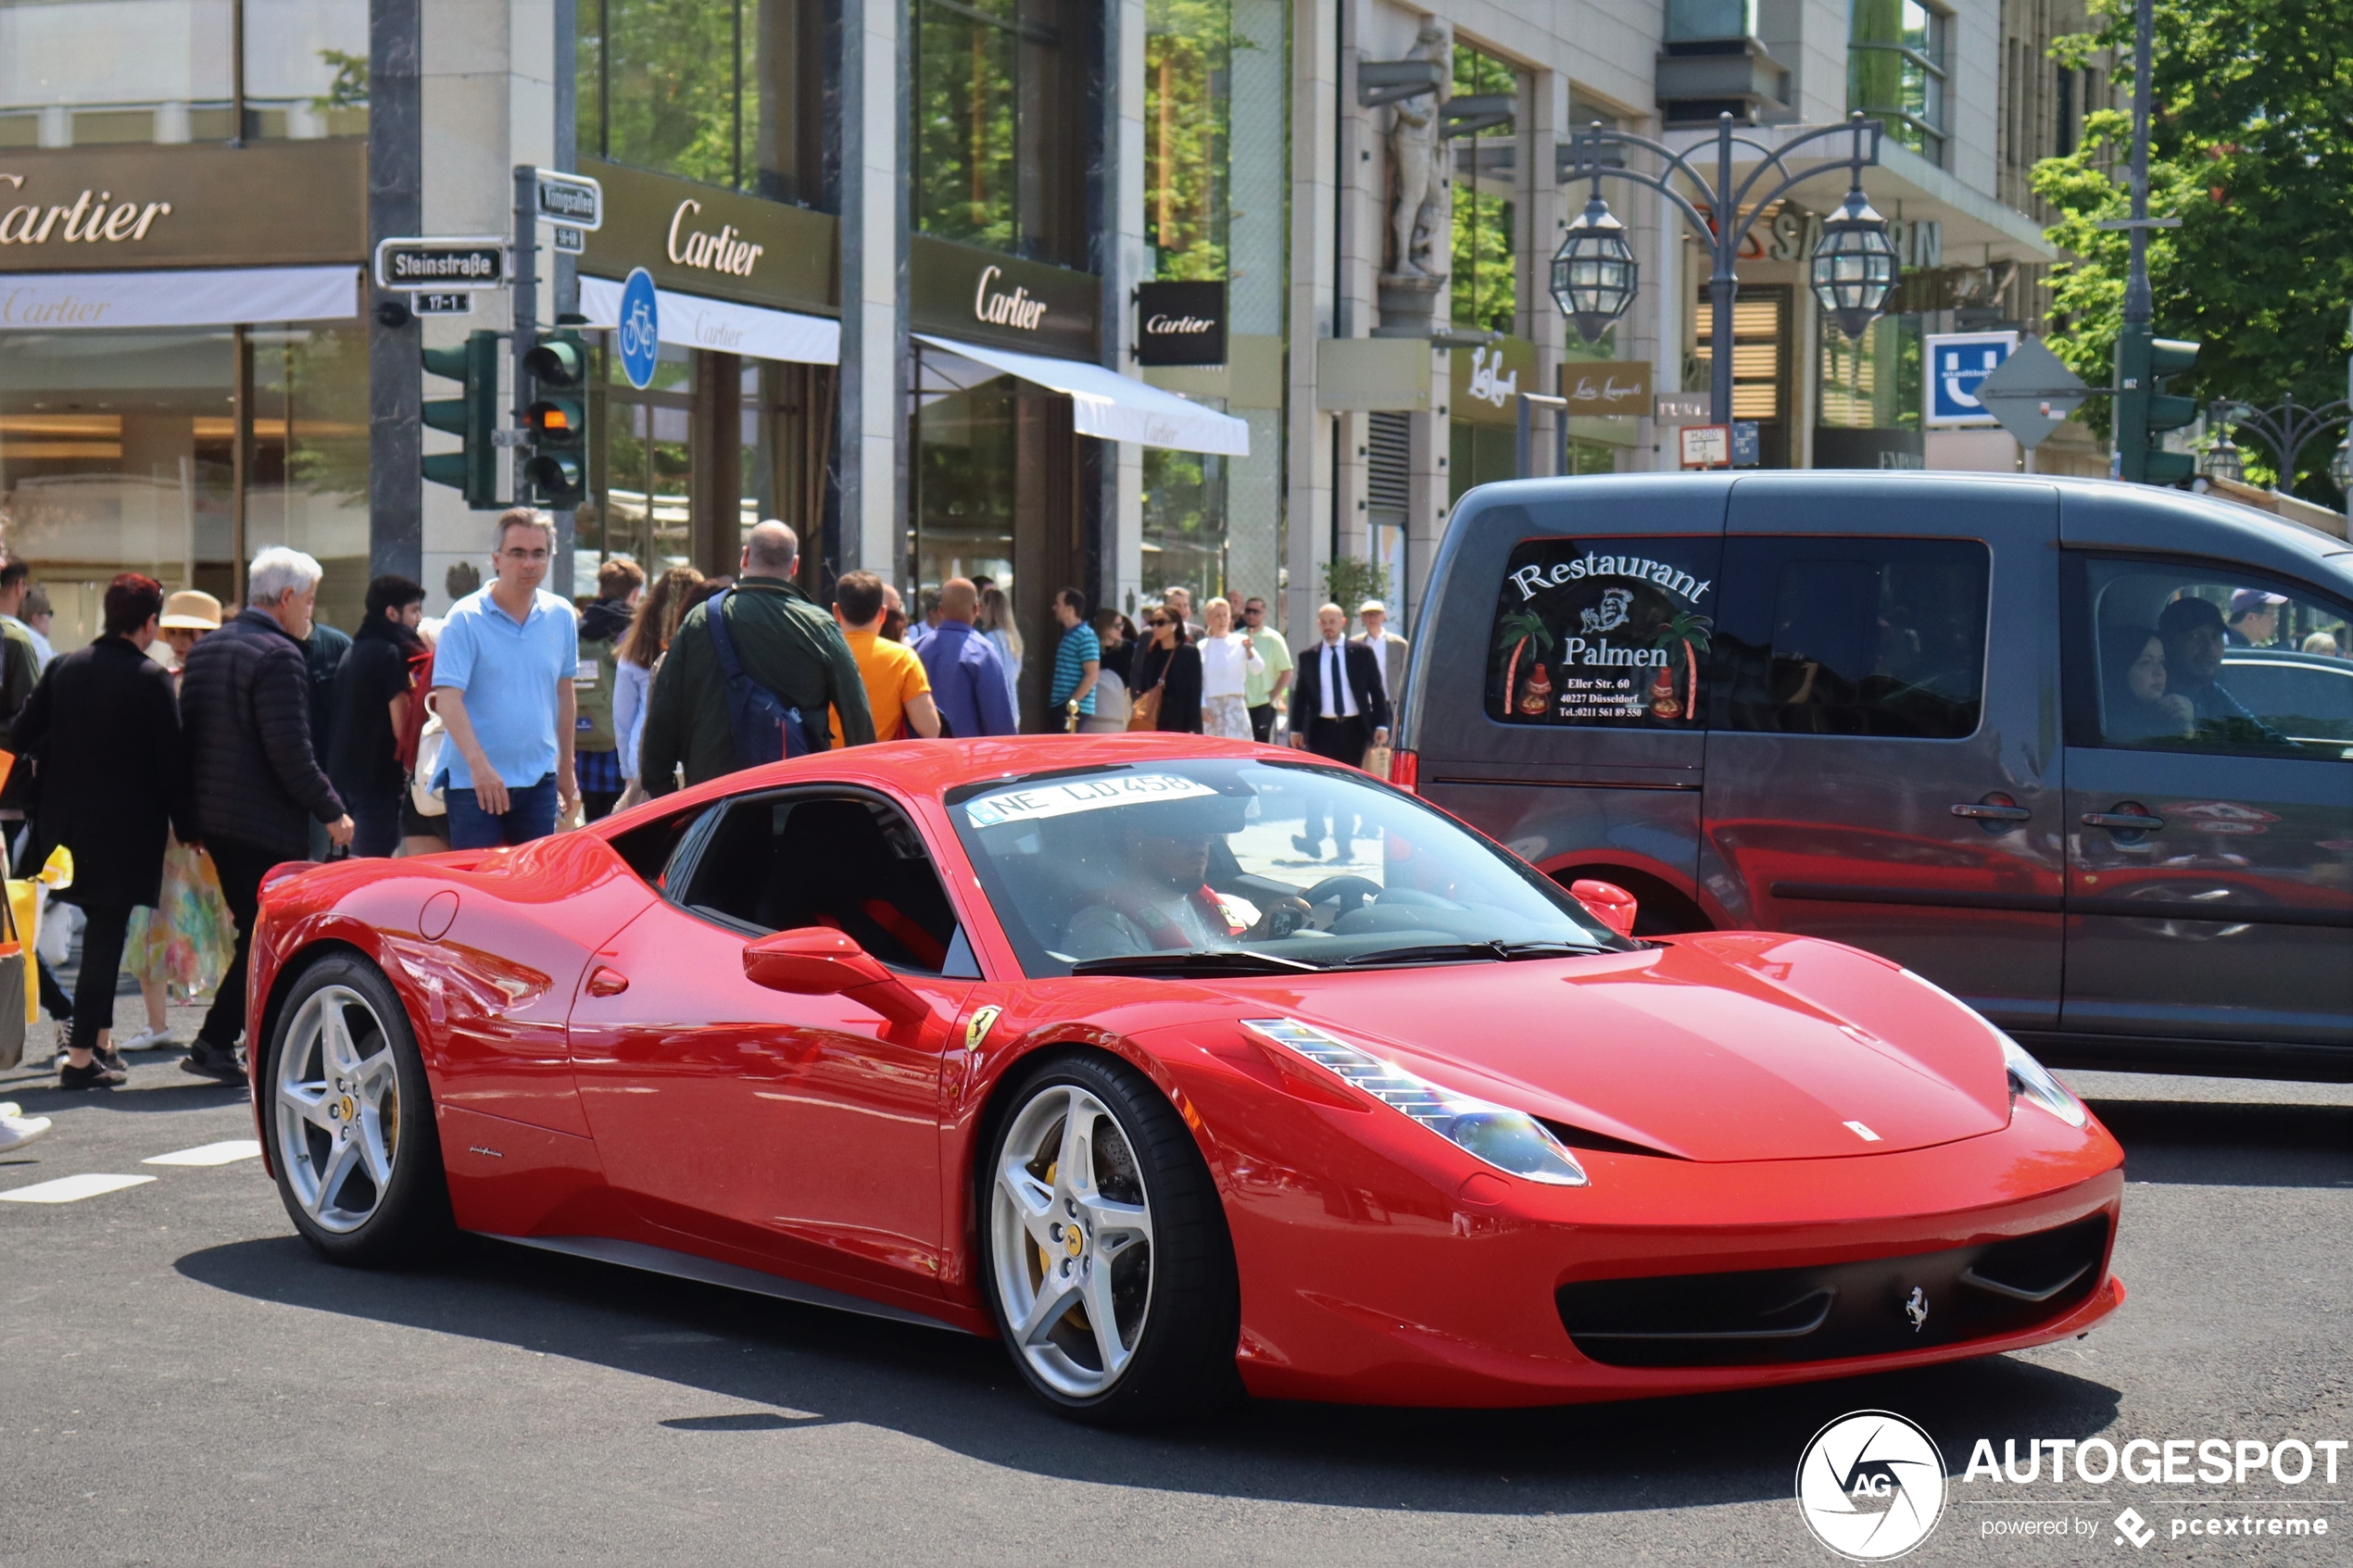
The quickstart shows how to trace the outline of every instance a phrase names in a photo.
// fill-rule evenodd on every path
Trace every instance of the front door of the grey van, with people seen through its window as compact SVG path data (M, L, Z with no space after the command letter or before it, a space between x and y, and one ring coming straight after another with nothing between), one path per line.
M2066 595L2061 1027L2353 1051L2346 602L2092 550Z

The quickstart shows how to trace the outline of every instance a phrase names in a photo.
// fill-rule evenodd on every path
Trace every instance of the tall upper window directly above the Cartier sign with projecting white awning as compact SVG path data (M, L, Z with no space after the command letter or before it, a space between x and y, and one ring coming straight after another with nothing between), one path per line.
M1087 263L1080 0L915 0L915 228Z

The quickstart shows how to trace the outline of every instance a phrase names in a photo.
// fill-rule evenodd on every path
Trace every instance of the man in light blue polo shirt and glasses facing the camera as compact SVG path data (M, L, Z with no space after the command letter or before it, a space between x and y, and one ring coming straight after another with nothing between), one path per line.
M572 677L579 618L541 592L555 524L527 505L499 512L492 571L449 607L433 644L433 710L449 745L442 773L449 849L525 844L555 832L579 799L572 773Z

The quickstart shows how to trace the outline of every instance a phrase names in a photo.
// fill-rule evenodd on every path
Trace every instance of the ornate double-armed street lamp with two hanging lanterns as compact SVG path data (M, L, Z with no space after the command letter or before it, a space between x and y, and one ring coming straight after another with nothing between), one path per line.
M1897 249L1887 237L1887 221L1864 197L1864 169L1880 160L1880 120L1866 120L1857 113L1845 125L1824 125L1791 136L1779 148L1769 148L1751 136L1734 136L1732 115L1727 113L1715 122L1715 181L1711 183L1685 153L1649 136L1607 129L1595 120L1588 129L1577 132L1577 160L1562 169L1562 183L1591 179L1593 195L1584 214L1569 223L1560 249L1553 254L1551 282L1560 313L1577 322L1579 336L1591 343L1633 303L1638 268L1633 249L1626 244L1624 226L1609 214L1609 202L1602 200L1602 179L1631 179L1638 186L1649 186L1682 212L1713 259L1713 270L1708 273L1708 303L1713 306L1708 334L1708 418L1718 425L1732 423L1732 299L1739 294L1734 263L1758 216L1793 186L1817 174L1847 169L1847 200L1821 226L1821 242L1814 247L1814 299L1821 301L1821 308L1831 313L1840 331L1849 339L1861 336L1864 327L1887 308L1887 294L1897 282ZM1835 136L1847 139L1845 158L1819 162L1812 169L1788 167L1786 160L1798 148ZM1666 167L1647 174L1633 167L1607 165L1602 162L1602 148L1609 146L1654 153ZM1758 153L1758 167L1739 181L1732 179L1734 146ZM1713 221L1701 216L1699 207L1675 188L1675 174L1682 174L1697 188ZM1779 183L1765 188L1774 176L1779 176Z

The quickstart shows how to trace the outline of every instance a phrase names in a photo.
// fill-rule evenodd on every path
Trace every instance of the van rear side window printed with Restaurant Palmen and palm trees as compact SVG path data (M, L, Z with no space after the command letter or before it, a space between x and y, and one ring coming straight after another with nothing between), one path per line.
M1487 717L1697 729L1722 538L1522 538L1497 588Z

